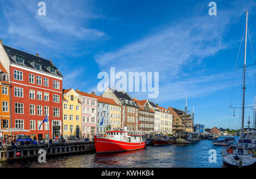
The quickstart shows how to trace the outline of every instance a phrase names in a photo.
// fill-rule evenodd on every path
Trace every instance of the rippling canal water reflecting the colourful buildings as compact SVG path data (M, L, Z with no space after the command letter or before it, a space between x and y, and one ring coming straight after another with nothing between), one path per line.
M220 137L224 139L224 137ZM238 140L238 137L236 137ZM46 163L40 164L38 161L19 160L5 161L0 163L3 167L128 167L128 168L159 168L159 167L197 167L197 168L221 168L226 167L221 158L222 146L213 146L212 140L201 140L195 144L173 144L171 146L148 146L146 149L111 153L111 154L82 154L65 155L47 158ZM216 163L209 162L209 150L216 150Z

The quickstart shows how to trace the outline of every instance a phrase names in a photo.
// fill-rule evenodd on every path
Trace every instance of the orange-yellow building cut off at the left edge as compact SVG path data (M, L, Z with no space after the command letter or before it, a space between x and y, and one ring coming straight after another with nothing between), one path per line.
M5 68L0 63L0 129L9 129L11 128L10 120L10 83L9 75ZM1 133L0 137L5 137L10 135L10 133Z

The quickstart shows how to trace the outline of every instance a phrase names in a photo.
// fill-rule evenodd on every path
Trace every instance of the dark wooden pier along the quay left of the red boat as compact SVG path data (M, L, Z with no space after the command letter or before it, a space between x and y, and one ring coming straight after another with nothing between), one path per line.
M28 146L16 146L16 150L12 150L11 146L3 146L3 151L0 151L0 161L13 160L13 159L27 159L32 157L38 157L38 151L43 149L46 151L46 156L49 155L64 155L75 154L84 152L94 152L94 141L89 142L73 142L73 143L53 143L50 144L38 144ZM17 153L20 153L17 156Z

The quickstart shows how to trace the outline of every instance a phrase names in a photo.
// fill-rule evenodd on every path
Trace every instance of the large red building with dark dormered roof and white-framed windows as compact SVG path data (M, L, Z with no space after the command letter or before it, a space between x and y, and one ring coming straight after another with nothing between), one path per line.
M48 139L62 134L62 79L47 59L4 46L10 60L11 121L30 130L20 135ZM48 115L48 122L43 122ZM40 127L40 128L39 128Z

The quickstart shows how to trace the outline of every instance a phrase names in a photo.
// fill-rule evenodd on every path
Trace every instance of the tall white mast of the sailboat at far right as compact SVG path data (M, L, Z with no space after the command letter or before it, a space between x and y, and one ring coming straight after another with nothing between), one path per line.
M244 65L243 65L242 138L243 138L243 128L244 128L244 122L245 122L245 69L246 69L247 22L248 22L248 10L246 11L246 29L245 29L245 62L244 62Z

